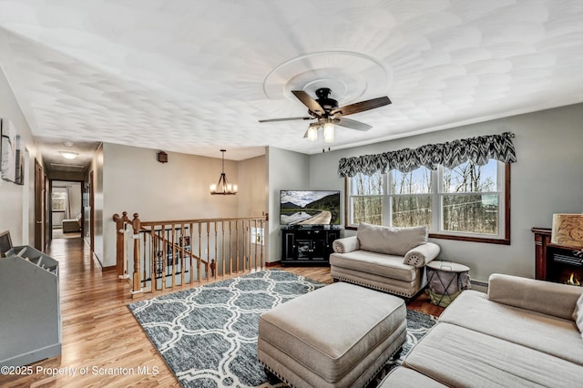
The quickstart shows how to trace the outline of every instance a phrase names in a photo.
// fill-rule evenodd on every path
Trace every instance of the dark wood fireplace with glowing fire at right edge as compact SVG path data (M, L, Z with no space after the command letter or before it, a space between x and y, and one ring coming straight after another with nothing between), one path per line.
M533 228L535 233L536 277L581 285L583 283L583 252L550 242L551 230Z

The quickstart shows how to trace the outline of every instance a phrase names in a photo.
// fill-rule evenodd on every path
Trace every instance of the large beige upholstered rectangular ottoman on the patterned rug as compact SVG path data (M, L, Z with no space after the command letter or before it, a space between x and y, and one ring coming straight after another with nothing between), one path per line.
M405 337L402 299L341 282L261 314L257 352L294 387L362 387Z

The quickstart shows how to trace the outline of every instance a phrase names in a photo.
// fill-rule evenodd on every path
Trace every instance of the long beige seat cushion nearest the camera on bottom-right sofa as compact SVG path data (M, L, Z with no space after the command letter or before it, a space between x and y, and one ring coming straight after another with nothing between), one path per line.
M455 387L568 387L581 379L576 363L445 322L414 345L403 365Z

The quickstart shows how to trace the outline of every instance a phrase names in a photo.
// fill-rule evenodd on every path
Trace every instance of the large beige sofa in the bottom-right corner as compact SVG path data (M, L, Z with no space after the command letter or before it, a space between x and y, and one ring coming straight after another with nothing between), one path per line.
M487 295L463 291L445 309L403 368L382 386L581 386L583 287L493 274Z

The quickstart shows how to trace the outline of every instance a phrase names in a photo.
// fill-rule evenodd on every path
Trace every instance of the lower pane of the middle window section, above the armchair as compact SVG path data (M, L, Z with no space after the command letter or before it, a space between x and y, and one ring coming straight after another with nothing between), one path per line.
M399 196L393 198L393 226L424 225L431 228L431 196Z

